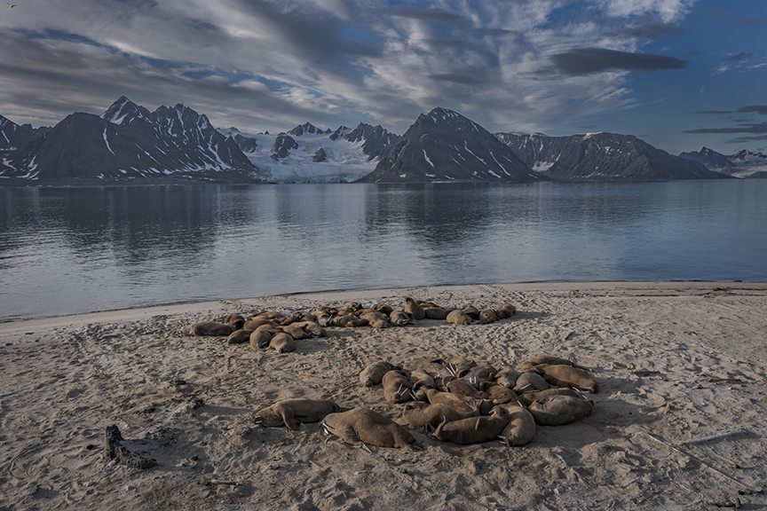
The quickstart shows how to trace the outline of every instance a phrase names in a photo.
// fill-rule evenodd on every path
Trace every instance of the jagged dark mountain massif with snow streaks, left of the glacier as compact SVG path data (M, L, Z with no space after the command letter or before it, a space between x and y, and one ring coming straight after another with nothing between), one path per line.
M68 115L4 155L0 177L30 183L261 182L262 175L205 115L154 112L119 98L99 115Z

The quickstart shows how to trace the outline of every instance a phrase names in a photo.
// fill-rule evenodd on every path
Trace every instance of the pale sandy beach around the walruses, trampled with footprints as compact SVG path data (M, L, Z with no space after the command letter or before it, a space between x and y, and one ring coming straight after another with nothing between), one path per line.
M424 319L277 353L178 328L320 305L512 303L490 325ZM767 508L767 283L551 283L413 287L186 303L0 324L0 510ZM399 421L360 386L369 363L549 354L593 368L594 412L539 426L521 447L361 449L250 419L287 398L330 399ZM156 461L109 459L105 428ZM709 438L713 437L713 438Z

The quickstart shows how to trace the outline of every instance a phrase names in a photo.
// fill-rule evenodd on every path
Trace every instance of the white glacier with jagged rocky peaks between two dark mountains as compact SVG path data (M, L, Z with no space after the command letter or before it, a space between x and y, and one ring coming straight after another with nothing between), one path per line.
M349 183L376 168L377 158L399 136L364 122L350 130L321 130L306 122L287 133L250 135L219 130L275 183Z

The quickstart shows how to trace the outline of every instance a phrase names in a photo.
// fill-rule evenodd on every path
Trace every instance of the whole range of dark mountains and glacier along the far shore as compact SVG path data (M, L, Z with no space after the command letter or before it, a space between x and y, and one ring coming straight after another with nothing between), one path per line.
M673 156L631 135L492 134L447 108L399 137L381 126L305 122L270 135L216 129L178 104L122 97L52 128L0 115L0 185L668 180L767 177L767 157L703 148Z

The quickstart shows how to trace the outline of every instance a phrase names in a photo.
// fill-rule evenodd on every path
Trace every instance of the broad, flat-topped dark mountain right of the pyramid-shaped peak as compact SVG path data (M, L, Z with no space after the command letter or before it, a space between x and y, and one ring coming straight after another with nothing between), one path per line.
M716 179L723 174L657 149L633 135L587 133L547 137L540 133L496 133L522 161L565 181Z

